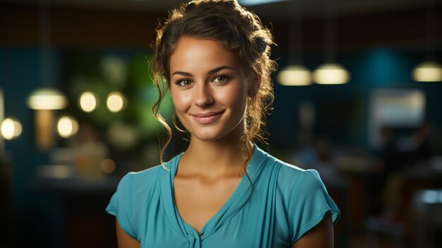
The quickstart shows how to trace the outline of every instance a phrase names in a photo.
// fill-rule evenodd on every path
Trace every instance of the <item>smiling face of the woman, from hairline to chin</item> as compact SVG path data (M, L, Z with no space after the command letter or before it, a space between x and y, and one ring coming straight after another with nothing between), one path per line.
M220 42L182 37L169 68L170 95L192 138L214 141L244 133L249 83L235 54Z

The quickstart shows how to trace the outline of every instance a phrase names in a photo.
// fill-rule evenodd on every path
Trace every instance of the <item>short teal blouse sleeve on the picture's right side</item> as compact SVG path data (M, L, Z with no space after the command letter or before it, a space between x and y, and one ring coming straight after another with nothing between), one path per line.
M306 170L299 175L289 200L288 213L292 244L318 225L325 213L330 213L333 225L340 216L338 206L328 195L316 170Z

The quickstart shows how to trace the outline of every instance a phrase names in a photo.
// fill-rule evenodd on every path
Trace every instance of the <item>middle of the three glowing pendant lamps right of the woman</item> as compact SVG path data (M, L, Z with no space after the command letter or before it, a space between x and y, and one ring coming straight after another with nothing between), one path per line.
M342 84L350 80L350 74L340 64L322 64L314 71L313 78L319 84Z

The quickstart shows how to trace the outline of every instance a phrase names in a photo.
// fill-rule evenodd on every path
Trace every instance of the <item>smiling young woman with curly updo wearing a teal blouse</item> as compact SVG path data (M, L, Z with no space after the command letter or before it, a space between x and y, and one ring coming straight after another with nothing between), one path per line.
M318 173L253 143L273 102L272 44L237 1L193 1L160 26L154 113L170 137L158 112L169 90L190 142L121 179L106 209L119 247L333 247L339 211Z

